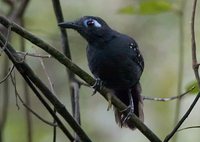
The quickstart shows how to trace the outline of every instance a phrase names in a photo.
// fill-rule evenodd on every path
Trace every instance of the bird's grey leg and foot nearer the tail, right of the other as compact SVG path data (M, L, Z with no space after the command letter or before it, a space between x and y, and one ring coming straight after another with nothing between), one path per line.
M130 119L130 117L134 113L134 102L131 90L129 90L128 96L129 96L129 106L122 111L122 112L127 112L127 114L123 115L122 117L122 124L124 124L128 119Z

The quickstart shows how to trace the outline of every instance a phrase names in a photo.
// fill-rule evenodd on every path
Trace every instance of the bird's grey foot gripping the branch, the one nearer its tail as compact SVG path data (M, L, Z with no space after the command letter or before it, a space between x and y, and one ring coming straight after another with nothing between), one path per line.
M121 112L123 113L122 124L124 124L133 115L133 113L134 113L134 106L133 105L129 105L126 109L122 110Z

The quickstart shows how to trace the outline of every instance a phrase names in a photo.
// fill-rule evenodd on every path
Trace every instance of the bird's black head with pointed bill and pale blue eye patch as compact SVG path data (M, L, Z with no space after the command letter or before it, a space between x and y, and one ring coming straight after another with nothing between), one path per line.
M111 35L111 28L106 22L94 16L84 16L73 22L58 24L62 28L71 28L79 32L89 43L108 40Z

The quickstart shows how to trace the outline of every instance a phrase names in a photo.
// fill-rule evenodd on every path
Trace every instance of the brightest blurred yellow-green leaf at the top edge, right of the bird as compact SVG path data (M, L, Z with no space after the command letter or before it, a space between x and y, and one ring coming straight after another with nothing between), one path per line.
M149 0L140 3L140 14L159 14L172 9L172 4L166 0Z

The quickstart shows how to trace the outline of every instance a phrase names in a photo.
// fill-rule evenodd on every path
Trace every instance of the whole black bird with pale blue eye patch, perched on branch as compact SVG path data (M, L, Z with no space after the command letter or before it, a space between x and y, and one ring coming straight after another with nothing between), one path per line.
M121 127L134 129L135 125L128 121L131 114L135 113L142 121L144 119L139 83L144 61L135 40L111 29L99 17L84 16L59 26L74 29L87 40L89 68L97 79L95 87L103 83L128 106L124 110L129 111L128 115L114 108L115 119Z

